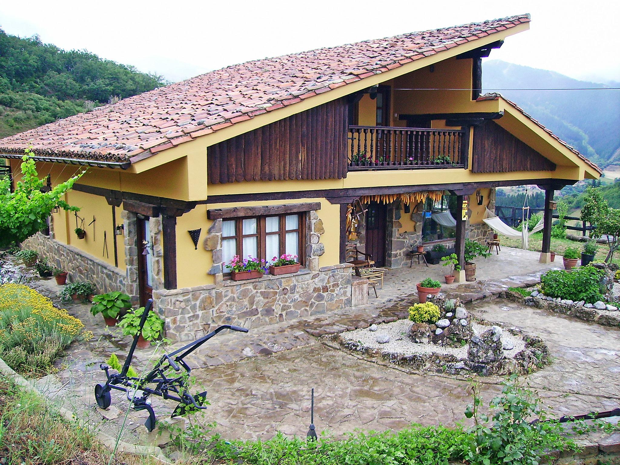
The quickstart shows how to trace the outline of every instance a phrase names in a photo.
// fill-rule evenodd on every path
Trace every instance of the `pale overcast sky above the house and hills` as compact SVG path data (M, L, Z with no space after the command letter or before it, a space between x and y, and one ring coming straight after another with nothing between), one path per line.
M0 27L180 81L229 64L530 13L490 58L620 81L620 1L314 0L3 2Z

